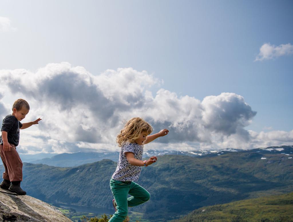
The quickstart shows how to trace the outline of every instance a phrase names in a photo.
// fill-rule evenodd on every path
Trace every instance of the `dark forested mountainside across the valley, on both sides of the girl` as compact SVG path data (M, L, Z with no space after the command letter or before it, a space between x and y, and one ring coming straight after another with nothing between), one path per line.
M151 199L132 210L151 221L165 221L202 206L293 192L291 151L159 156L156 163L142 168L138 181ZM116 166L111 160L74 168L24 163L22 186L28 195L47 202L111 209L109 180Z

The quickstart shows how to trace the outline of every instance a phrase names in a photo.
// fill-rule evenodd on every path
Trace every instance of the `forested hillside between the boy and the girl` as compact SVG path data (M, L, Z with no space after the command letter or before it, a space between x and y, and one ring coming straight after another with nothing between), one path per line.
M112 160L76 168L24 163L22 186L28 195L49 202L110 208L109 182L116 166Z

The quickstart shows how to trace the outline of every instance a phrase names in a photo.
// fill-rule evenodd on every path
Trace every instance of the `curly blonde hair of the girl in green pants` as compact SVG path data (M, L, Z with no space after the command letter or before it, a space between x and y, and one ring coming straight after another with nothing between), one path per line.
M153 128L149 123L144 121L144 119L134 117L125 124L123 129L121 129L120 133L117 135L116 142L119 147L121 147L126 141L133 143L139 138L143 131L147 131L147 134L149 135L153 131Z

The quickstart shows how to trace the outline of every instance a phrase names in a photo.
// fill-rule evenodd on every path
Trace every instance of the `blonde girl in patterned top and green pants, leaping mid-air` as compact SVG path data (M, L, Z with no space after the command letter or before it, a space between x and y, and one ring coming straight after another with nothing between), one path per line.
M128 207L137 206L149 200L150 194L146 189L133 181L137 181L141 167L151 165L158 159L152 156L142 161L143 144L168 134L168 129L148 136L153 131L151 125L142 118L130 119L117 136L117 144L121 147L118 165L110 180L111 191L114 195L113 206L115 214L109 222L122 222L128 215ZM128 194L132 195L128 197ZM128 198L127 198L128 197Z

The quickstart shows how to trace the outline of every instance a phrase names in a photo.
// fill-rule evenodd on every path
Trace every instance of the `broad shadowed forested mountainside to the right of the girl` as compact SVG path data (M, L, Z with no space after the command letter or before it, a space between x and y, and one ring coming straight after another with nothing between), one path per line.
M141 206L148 215L178 216L191 208L293 191L293 161L284 154L164 156L142 175L141 183L153 197Z

